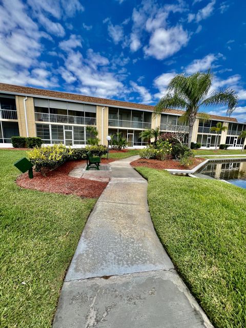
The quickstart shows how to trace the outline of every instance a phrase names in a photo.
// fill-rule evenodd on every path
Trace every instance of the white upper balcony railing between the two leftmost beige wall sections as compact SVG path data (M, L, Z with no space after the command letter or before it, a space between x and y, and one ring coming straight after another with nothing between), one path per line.
M71 116L71 115L48 114L48 113L35 113L35 120L38 122L96 125L95 117Z

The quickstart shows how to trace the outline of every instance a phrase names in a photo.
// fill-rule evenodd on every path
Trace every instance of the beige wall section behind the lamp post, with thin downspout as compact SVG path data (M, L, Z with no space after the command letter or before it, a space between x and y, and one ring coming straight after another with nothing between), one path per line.
M104 108L104 109L103 109ZM108 145L107 135L109 134L109 108L96 106L96 128L101 145Z

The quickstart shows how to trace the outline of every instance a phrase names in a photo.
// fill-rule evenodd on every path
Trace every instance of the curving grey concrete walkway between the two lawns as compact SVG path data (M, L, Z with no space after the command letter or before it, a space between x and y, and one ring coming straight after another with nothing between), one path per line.
M112 177L81 235L54 328L212 327L156 236L147 181L111 163Z

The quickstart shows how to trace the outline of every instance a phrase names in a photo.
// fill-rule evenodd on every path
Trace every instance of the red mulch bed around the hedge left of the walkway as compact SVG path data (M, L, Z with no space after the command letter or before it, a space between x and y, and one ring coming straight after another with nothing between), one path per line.
M114 159L102 159L103 164L107 164ZM33 172L33 179L29 179L28 173L20 175L16 183L19 187L35 189L39 191L72 194L79 197L96 198L104 191L107 182L88 180L83 178L73 178L68 176L69 172L76 166L86 163L86 160L69 161L61 165L57 170L43 176L40 172Z

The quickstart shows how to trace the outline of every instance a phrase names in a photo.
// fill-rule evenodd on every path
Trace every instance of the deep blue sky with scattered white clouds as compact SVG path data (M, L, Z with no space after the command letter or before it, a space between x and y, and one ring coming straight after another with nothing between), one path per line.
M242 0L0 1L0 81L155 105L175 74L211 68L246 121L245 13Z

